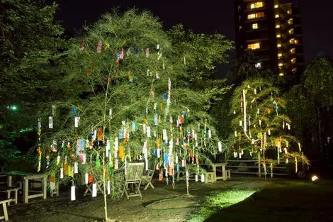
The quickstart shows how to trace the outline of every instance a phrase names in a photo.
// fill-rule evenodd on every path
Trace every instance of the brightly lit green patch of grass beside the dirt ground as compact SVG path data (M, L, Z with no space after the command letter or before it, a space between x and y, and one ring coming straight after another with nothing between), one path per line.
M206 196L201 206L188 214L187 222L203 222L214 213L228 206L237 204L257 192L250 189L228 189L212 192Z

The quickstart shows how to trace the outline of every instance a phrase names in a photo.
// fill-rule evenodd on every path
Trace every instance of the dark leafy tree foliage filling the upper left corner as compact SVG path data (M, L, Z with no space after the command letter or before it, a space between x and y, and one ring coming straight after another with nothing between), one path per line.
M57 5L1 0L0 7L0 118L11 126L29 126L38 102L54 96L52 80L60 77L65 44L54 19ZM12 104L20 109L7 110Z

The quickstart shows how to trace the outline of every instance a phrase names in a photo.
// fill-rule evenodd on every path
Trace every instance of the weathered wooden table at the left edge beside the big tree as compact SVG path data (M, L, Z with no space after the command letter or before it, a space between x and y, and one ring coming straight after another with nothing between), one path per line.
M12 177L18 176L23 177L23 202L28 203L29 199L37 198L43 196L43 199L46 199L46 190L47 190L47 175L46 174L31 174L22 171L10 171L10 172L0 172L0 175L7 176L7 186L11 187ZM38 194L29 195L29 180L30 179L41 179L42 180L42 190Z

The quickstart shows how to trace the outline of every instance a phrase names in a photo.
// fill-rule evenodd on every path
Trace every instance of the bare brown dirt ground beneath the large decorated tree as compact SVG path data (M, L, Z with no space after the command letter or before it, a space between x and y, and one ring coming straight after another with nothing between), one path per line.
M186 214L198 206L198 200L208 192L235 188L259 188L271 182L256 179L234 179L228 182L216 182L214 184L190 183L191 196L186 194L184 182L176 184L175 189L164 182L154 182L155 189L142 191L142 199L132 197L130 199L108 199L108 216L116 221L156 221L176 222L185 221ZM60 197L36 200L29 204L18 204L9 207L10 221L25 222L92 222L101 221L103 218L103 196L92 199L91 196L77 194L77 201L69 201L69 192L64 192ZM156 202L162 199L168 201ZM152 204L154 202L154 204ZM150 205L149 205L150 204Z

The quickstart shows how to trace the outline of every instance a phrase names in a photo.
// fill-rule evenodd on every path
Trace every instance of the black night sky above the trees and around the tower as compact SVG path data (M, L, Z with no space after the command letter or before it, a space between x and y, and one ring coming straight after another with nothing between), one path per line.
M60 5L57 18L67 32L75 33L82 25L94 23L101 14L120 6L122 11L136 6L148 9L160 18L165 28L177 23L200 33L221 33L235 40L233 0L215 1L151 1L151 0L56 0ZM332 6L329 0L302 0L305 61L310 62L318 52L333 57ZM232 57L235 52L231 53Z

